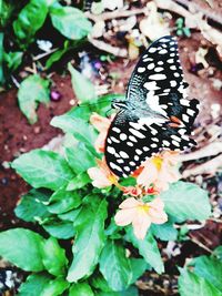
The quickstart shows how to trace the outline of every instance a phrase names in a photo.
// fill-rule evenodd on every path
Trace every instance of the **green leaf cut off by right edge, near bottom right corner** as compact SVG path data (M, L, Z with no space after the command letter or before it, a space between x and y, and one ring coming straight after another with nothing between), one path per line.
M194 265L194 273L198 276L205 278L222 292L222 263L219 259L213 256L200 256L194 258L191 265Z

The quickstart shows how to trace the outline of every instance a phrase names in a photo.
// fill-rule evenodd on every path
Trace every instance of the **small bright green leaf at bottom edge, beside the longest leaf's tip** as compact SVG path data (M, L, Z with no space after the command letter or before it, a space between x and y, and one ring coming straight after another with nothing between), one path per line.
M43 292L40 294L40 296L59 296L61 295L65 289L69 288L69 283L65 279L62 278L56 278L52 279L43 289Z

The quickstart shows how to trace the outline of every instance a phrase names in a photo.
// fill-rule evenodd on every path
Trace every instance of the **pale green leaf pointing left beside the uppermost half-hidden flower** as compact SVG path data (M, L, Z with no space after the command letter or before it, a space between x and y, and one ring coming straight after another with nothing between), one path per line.
M77 108L77 110L79 108ZM61 129L64 133L73 134L78 141L85 143L88 146L92 146L98 134L85 120L74 116L75 113L77 112L68 112L63 115L54 116L50 124Z

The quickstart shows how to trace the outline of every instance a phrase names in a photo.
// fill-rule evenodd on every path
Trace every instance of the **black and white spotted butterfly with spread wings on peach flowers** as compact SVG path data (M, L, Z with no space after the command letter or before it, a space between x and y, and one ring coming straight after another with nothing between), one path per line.
M138 62L105 140L111 171L127 177L161 150L181 151L195 145L190 139L199 101L188 100L188 83L173 37L154 41Z

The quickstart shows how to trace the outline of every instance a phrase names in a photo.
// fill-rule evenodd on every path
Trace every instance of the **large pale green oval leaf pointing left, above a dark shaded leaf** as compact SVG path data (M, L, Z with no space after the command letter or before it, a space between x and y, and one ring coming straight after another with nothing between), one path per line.
M62 156L39 149L22 154L11 166L34 188L46 187L57 191L73 177Z

